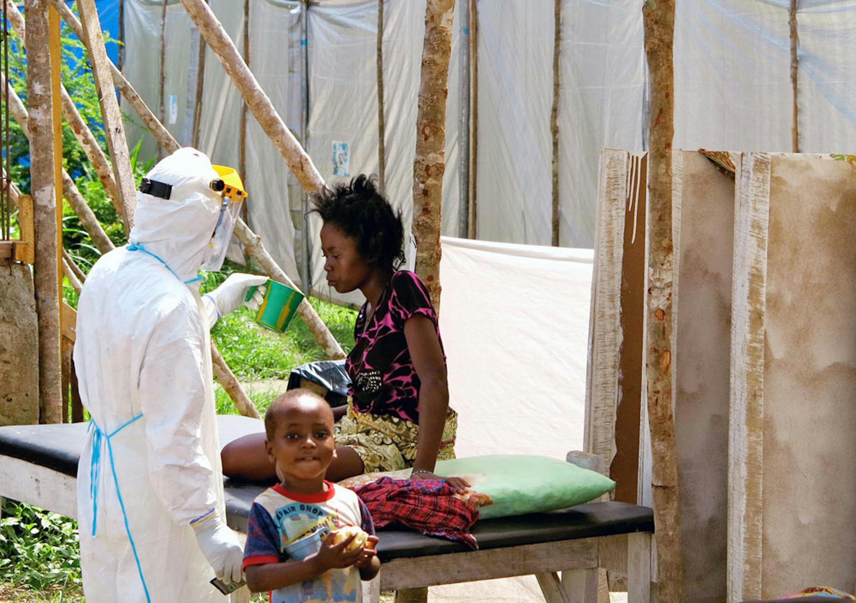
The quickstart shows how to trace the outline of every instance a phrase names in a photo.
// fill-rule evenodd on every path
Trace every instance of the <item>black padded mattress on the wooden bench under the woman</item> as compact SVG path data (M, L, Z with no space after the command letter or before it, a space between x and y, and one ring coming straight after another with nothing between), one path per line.
M261 421L234 415L217 417L220 443L225 445L247 433L260 432ZM0 455L19 458L66 475L77 475L80 451L86 439L86 423L0 427ZM247 531L247 516L253 499L268 484L224 480L229 526ZM476 522L473 535L479 548L520 546L572 540L591 536L653 532L651 509L626 503L580 504L548 513L487 519ZM450 540L433 538L407 528L383 528L378 556L424 557L469 549Z

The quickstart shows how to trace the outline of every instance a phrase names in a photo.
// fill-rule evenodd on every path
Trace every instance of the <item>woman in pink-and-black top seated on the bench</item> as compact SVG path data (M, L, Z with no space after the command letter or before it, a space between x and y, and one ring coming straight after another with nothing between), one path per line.
M366 296L354 325L345 369L348 406L335 409L336 457L327 479L412 467L412 478L467 481L434 475L438 459L455 458L457 414L449 408L446 358L437 313L425 284L404 261L401 212L393 211L372 179L358 176L314 199L324 225L321 248L327 282L339 293ZM265 434L237 439L222 452L223 474L275 479Z

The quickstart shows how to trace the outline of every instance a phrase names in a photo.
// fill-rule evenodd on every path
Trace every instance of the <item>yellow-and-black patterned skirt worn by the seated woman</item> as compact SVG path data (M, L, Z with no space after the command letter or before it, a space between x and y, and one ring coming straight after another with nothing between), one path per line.
M458 414L449 409L443 426L438 461L455 458ZM350 446L360 455L366 473L413 467L419 425L393 415L375 415L354 410L348 398L348 415L336 423L336 445Z

